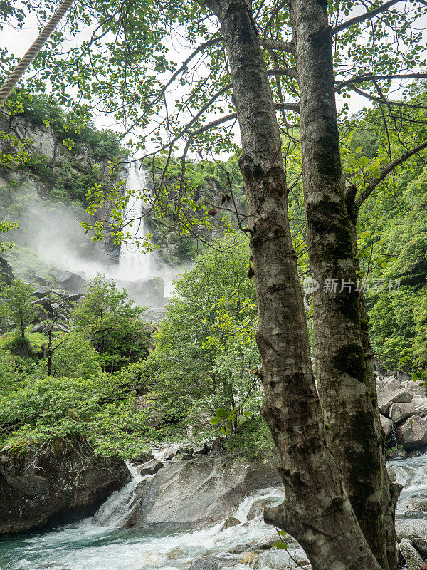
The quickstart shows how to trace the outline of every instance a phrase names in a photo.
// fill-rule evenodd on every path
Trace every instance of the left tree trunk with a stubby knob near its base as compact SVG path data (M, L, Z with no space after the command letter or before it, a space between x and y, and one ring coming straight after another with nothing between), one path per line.
M300 542L313 570L379 570L327 447L290 237L278 123L251 10L242 0L206 4L221 23L241 127L263 415L278 450L286 492L285 502L266 509L265 519Z

